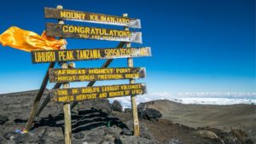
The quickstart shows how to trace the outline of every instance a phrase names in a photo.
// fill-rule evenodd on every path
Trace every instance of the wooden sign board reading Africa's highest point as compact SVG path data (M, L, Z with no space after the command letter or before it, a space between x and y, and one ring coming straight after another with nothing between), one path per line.
M144 67L119 68L49 68L49 82L66 83L97 80L144 78Z

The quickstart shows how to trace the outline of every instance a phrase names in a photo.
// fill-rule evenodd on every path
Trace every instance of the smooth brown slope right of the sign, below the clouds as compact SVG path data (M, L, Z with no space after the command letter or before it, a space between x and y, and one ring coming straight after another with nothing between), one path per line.
M160 111L163 119L193 128L208 126L225 132L243 130L256 143L255 105L185 105L165 100L141 105Z

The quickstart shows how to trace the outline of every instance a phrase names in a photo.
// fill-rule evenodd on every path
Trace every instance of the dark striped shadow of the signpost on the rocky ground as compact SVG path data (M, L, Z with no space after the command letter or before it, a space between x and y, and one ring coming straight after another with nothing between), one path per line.
M53 117L49 115L48 118L40 118L38 121L34 121L32 130L38 127L49 126L49 127L61 127L64 131L64 114L60 113ZM20 121L20 120L19 120ZM25 120L24 120L25 121ZM24 122L22 120L22 122ZM78 113L72 112L72 132L79 133L84 130L92 130L102 126L113 126L116 125L120 129L127 128L119 118L115 118L107 112L102 110L90 109L81 110ZM127 128L128 129L128 128Z

